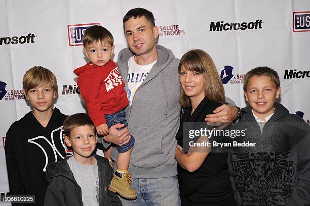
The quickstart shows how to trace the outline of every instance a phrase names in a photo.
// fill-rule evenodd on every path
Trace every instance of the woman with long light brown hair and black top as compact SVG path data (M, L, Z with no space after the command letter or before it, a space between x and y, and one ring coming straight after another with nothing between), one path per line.
M183 123L203 122L206 125L206 115L225 104L224 88L215 65L203 50L190 50L180 60L179 75L180 102L185 110L176 134L175 157L182 205L236 205L228 176L227 153L212 153L210 147L191 147L193 150L187 153L182 149ZM192 126L187 124L184 131L187 127ZM184 140L186 138L188 136ZM208 137L196 140L202 141L208 141Z

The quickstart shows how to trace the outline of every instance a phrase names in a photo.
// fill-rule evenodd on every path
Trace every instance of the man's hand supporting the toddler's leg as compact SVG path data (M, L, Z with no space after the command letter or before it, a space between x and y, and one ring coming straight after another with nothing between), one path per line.
M128 131L128 127L118 130L118 128L124 127L124 124L115 124L109 128L109 132L107 136L103 136L103 140L109 143L117 144L122 146L126 144L130 140L130 134Z

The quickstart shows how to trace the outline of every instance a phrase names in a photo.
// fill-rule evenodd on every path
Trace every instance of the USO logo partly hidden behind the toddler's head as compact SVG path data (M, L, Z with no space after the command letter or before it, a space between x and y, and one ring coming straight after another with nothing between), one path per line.
M69 24L68 25L68 37L70 46L83 45L84 31L91 26L100 25L100 23L90 24Z

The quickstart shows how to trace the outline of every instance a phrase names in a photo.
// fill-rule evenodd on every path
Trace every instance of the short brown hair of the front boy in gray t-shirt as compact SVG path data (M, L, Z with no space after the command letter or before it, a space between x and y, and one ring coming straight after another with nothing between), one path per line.
M92 127L95 134L96 134L96 128L94 126L94 123L91 121L89 116L85 113L78 113L78 114L71 115L71 116L67 117L65 119L65 121L63 122L65 134L68 137L70 137L70 133L75 127L81 127L84 125L88 125L88 126Z

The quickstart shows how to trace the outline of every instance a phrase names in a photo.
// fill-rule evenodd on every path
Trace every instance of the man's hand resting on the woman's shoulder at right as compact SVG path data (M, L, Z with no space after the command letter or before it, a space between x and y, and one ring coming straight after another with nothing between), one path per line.
M221 123L221 125L224 124L230 124L232 121L234 121L238 117L238 109L237 107L231 107L229 105L222 105L218 108L216 108L212 115L207 115L205 121L210 123ZM217 126L221 126L217 125ZM216 125L215 125L216 126Z

